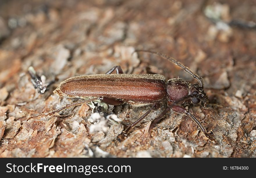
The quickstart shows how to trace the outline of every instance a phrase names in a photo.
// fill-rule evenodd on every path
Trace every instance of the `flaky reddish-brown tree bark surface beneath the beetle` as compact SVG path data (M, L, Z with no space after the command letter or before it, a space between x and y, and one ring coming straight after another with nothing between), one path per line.
M1 1L0 157L256 157L255 8L251 0ZM90 103L45 117L77 101L53 94L60 82L117 65L196 82L134 49L166 53L204 77L207 107L184 106L218 143L172 111L148 133L165 101L124 141L118 135L150 106ZM30 66L43 83L58 82L39 94Z

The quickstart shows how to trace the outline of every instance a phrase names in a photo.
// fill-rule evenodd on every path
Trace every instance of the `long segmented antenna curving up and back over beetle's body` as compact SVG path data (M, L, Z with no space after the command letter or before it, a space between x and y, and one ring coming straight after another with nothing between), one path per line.
M165 54L159 53L159 52L155 52L155 51L147 51L147 50L136 50L134 52L147 52L147 53L152 53L152 54L156 54L159 55L163 58L168 59L169 61L173 62L174 64L176 64L177 66L179 66L180 68L182 68L185 72L189 73L193 78L195 78L196 80L198 80L198 83L200 84L201 87L204 87L204 79L202 77L199 77L196 73L194 73L193 71L191 71L188 67L184 66L182 63L178 62L177 60L175 60L173 57L167 56Z

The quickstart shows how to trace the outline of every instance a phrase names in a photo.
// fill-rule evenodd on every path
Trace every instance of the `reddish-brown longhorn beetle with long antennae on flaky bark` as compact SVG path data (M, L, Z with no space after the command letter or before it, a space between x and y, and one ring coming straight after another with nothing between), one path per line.
M168 100L168 107L155 119L153 119L150 129L171 109L176 113L189 115L198 125L200 130L210 139L213 139L213 132L205 129L200 121L193 116L188 109L179 106L181 103L200 104L206 107L209 99L204 92L204 80L191 69L182 63L165 54L136 50L134 52L147 52L159 55L173 62L193 78L198 80L199 84L192 84L180 78L166 80L165 76L159 74L124 74L120 66L114 66L105 74L81 75L69 78L54 90L54 94L59 96L68 96L84 98L74 103L67 104L47 115L52 115L64 109L90 103L91 101L101 100L109 105L120 105L128 103L134 107L152 105L151 108L143 114L138 120L132 123L123 134L127 134L134 126L140 123L151 111L160 107L160 102ZM116 74L111 74L116 70Z

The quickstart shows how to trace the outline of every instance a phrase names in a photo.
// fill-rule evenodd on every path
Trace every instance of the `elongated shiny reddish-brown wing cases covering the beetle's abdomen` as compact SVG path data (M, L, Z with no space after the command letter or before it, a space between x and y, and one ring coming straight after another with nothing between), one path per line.
M67 96L105 96L152 103L166 96L165 85L162 75L98 74L67 79L56 90Z

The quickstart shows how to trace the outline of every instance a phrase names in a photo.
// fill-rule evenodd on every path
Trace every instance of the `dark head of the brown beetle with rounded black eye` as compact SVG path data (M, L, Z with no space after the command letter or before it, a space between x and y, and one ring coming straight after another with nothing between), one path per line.
M200 104L206 107L209 103L208 96L205 94L204 88L198 84L190 84L189 94L194 94L195 97L191 98L191 103Z

